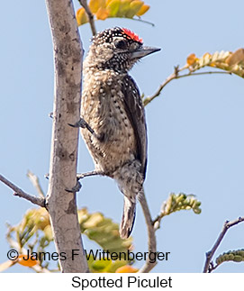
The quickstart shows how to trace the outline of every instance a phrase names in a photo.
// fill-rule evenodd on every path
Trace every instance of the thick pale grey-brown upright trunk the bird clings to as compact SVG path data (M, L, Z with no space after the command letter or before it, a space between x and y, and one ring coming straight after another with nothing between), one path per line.
M50 151L50 184L47 208L62 272L87 272L77 219L76 193L68 193L77 183L78 129L80 114L83 50L71 0L46 0L54 47L55 92ZM76 253L76 255L74 255ZM73 256L72 256L73 255Z

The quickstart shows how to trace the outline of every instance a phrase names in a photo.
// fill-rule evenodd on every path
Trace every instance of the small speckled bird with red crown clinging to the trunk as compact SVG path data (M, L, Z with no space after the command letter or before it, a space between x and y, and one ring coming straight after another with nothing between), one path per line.
M95 172L112 177L123 194L122 239L131 235L147 168L145 111L129 71L158 50L131 30L113 27L95 34L83 64L79 126Z

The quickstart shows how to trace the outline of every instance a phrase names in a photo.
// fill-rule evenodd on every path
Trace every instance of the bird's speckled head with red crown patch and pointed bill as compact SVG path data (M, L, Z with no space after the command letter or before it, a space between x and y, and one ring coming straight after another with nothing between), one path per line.
M139 59L158 50L143 46L134 32L114 27L95 35L86 59L89 67L127 72Z

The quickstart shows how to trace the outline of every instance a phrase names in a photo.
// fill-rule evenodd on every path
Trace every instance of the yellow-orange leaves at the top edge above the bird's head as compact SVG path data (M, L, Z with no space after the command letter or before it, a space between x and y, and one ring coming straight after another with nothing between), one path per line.
M149 10L149 5L140 0L90 0L88 7L96 20L105 20L111 17L140 18ZM88 15L84 7L77 10L77 23L88 23Z

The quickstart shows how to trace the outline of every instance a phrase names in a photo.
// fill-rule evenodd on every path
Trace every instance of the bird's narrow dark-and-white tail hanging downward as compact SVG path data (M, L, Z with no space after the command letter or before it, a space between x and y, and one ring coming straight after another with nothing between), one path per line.
M126 196L123 197L123 212L120 234L122 239L128 239L132 232L136 217L136 202L131 201Z

